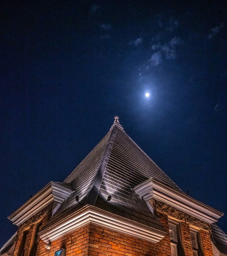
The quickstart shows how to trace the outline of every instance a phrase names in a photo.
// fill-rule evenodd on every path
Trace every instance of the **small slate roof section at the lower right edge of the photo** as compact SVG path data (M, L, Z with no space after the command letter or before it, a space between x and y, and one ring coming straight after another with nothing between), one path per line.
M227 235L216 224L211 224L212 241L216 248L227 255Z

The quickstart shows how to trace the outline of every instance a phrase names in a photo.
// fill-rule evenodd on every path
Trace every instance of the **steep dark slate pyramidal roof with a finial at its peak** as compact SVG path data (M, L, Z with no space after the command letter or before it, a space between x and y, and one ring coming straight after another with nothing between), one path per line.
M99 144L64 180L74 187L43 229L85 205L92 205L141 224L163 229L133 187L153 177L184 193L125 133L119 118ZM111 200L107 200L111 196ZM109 197L110 198L110 197Z

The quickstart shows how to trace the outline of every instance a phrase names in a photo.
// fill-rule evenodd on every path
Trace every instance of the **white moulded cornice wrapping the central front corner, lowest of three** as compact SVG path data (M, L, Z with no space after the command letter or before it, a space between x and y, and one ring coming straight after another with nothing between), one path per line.
M151 243L159 242L166 235L165 232L158 229L137 223L97 207L86 205L54 226L41 231L39 236L44 242L49 243L87 224L97 224Z

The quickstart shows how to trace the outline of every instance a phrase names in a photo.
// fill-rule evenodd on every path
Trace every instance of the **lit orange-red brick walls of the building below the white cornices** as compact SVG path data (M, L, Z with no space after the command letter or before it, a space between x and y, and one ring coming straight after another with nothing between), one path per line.
M66 249L66 256L171 256L168 216L159 212L156 212L156 214L167 232L166 236L156 244L96 225L87 225L52 242L51 250L45 249L45 243L39 238L37 256L54 256L54 252L61 248ZM48 218L48 214L43 217L42 225L47 222ZM27 227L29 228L29 234L25 256L29 256L30 254L37 223ZM18 230L14 256L18 256L18 249L24 229L24 227L20 227ZM185 256L193 256L190 230L187 223L181 223L181 233ZM200 231L200 236L204 256L212 256L209 232Z

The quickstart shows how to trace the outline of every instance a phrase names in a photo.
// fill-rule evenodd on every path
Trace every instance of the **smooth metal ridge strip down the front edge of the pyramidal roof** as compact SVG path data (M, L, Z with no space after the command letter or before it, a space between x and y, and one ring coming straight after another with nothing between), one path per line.
M96 203L96 199L98 197L99 189L100 189L100 186L102 184L102 179L103 179L103 176L104 176L104 173L105 173L105 170L106 170L106 165L107 165L107 162L109 160L110 152L111 152L111 149L112 149L112 146L113 146L116 131L117 131L117 127L115 126L115 127L113 127L113 129L111 131L109 140L106 144L106 148L105 148L104 153L102 155L102 160L99 164L98 170L95 174L95 177L94 177L94 180L91 184L90 190L89 190L89 192L86 196L86 200L85 200L84 205L89 204L89 205L94 206L95 203Z

